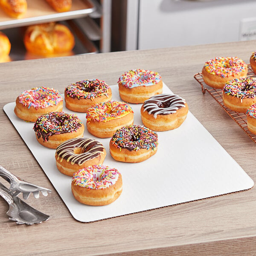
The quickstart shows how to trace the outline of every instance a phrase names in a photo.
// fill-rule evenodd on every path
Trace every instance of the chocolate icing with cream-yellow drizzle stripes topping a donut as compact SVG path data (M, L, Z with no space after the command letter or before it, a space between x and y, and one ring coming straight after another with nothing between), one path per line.
M74 151L79 149L80 154ZM67 160L71 164L82 165L84 162L98 157L104 151L104 146L97 140L91 138L75 138L67 140L56 148L58 159Z

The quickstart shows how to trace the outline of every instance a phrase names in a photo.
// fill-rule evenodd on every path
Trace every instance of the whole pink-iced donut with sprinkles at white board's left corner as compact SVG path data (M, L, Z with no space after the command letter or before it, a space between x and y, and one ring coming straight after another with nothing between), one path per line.
M20 119L35 122L44 113L62 111L63 99L58 90L36 87L25 90L16 99L14 113Z

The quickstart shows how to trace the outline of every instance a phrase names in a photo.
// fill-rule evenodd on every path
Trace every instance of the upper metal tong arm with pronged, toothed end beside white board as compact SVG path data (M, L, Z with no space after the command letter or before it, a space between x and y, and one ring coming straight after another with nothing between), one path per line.
M48 193L52 192L50 189L21 180L19 177L13 175L11 172L3 168L3 166L0 166L0 176L10 183L11 186L9 191L13 194L13 196L23 193L23 198L27 199L29 198L30 193L33 193L35 198L39 198L40 191L44 196L47 196Z

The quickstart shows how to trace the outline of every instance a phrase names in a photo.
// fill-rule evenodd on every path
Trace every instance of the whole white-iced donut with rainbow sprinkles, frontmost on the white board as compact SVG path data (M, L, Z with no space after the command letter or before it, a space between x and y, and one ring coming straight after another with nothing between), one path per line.
M122 193L122 175L108 166L88 166L74 173L71 190L82 204L111 204Z

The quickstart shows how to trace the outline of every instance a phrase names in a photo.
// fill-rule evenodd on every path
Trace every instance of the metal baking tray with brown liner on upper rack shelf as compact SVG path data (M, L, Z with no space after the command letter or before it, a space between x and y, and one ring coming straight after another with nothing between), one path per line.
M55 12L45 0L27 0L27 4L27 12L21 19L9 17L0 8L0 29L73 19L86 16L95 10L90 0L73 0L72 7L68 12Z

